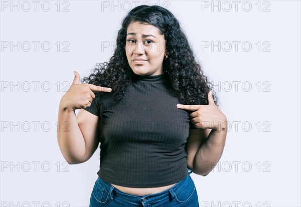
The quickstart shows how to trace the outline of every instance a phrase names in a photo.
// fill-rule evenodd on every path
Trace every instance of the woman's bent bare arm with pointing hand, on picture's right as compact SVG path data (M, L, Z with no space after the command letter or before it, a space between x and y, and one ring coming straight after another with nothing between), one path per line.
M191 129L186 145L187 166L203 176L211 172L221 158L228 128L227 118L215 105L212 91L208 93L208 101L208 105L177 105L194 111L190 117L197 129Z

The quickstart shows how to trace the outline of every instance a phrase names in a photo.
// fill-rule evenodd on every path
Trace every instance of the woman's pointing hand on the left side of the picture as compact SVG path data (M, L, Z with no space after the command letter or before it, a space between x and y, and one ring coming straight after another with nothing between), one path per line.
M74 71L74 80L69 90L61 99L63 109L75 110L91 106L95 98L93 91L110 92L111 88L95 86L88 83L79 84L79 74Z

